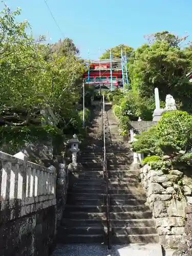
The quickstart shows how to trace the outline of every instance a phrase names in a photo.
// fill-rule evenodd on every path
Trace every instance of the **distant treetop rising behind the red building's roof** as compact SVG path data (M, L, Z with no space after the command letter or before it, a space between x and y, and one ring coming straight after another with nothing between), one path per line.
M126 53L127 57L130 57L133 52L133 48L127 45L118 45L116 47L111 48L111 52L113 58L121 58L121 49L123 50L123 54ZM106 50L100 57L100 59L109 59L110 58L110 49Z

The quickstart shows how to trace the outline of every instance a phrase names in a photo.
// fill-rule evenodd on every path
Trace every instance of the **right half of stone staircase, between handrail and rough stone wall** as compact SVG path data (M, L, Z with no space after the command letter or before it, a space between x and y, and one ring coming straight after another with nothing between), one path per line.
M140 184L139 170L132 164L133 153L119 135L111 105L106 105L105 111L112 243L157 243L159 237L152 211L145 205L146 196Z

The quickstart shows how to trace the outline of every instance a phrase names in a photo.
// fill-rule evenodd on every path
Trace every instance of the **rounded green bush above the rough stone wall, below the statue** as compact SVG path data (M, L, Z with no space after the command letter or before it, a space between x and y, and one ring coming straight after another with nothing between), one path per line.
M163 114L157 125L137 136L133 150L150 155L178 155L192 147L192 116L183 111Z

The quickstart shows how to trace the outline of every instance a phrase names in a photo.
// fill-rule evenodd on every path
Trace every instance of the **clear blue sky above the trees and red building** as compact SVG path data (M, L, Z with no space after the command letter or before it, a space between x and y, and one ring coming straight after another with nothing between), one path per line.
M7 0L15 9L22 8L20 20L28 19L34 36L39 34L62 38L44 0ZM119 44L141 46L143 35L163 30L192 35L191 0L47 0L59 27L74 40L81 56L88 49L96 58ZM191 39L192 40L192 39Z

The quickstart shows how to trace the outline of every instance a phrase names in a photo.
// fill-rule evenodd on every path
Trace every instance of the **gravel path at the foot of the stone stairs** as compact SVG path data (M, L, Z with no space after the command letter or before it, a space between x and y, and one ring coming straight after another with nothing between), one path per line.
M52 256L162 256L158 244L116 245L111 250L102 245L58 245Z

